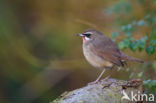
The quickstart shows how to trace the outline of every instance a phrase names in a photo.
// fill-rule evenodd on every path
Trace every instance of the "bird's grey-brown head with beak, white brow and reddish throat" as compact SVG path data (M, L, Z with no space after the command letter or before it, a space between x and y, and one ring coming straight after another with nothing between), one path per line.
M98 35L101 35L101 33L98 32L95 29L87 29L83 33L77 34L77 36L82 37L83 43L91 41L91 40L97 38Z

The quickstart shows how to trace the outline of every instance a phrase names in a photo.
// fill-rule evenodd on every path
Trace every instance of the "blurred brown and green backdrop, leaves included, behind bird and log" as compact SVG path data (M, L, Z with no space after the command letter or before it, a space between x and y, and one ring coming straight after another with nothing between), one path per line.
M103 77L140 78L156 94L156 0L1 0L0 103L48 103L94 81L76 36L88 28L145 61Z

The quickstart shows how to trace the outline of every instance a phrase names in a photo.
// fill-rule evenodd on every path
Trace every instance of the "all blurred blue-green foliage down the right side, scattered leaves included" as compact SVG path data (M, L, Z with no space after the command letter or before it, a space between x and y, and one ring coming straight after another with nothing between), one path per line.
M138 0L139 3L147 3L145 0ZM153 0L153 3L156 1ZM123 6L123 4L125 4ZM122 6L119 6L122 5ZM129 13L131 14L131 6L132 2L125 1L124 3L117 3L113 5L113 8L108 8L108 11L111 11L113 14L117 13ZM121 10L124 8L125 12ZM135 19L133 17L131 20L127 21L127 19L123 19L122 22L126 22L124 25L121 23L121 29L119 31L112 33L112 38L115 41L118 36L125 37L122 41L118 43L118 47L120 49L127 49L130 48L133 52L139 51L142 52L143 50L146 51L148 55L154 55L156 51L156 7L152 8L151 10L147 10L144 16L140 19ZM144 32L144 36L140 37L139 39L134 39L134 35L138 32L138 30L142 30L145 28L150 28L149 31ZM155 55L154 55L155 56ZM156 58L155 58L156 60ZM153 67L155 68L156 63L153 62ZM153 68L153 69L154 69ZM137 76L141 78L144 75L144 71L138 72ZM134 76L134 72L129 75L129 78ZM155 80L145 80L143 81L143 86L146 88L148 93L154 93L156 95L156 81Z

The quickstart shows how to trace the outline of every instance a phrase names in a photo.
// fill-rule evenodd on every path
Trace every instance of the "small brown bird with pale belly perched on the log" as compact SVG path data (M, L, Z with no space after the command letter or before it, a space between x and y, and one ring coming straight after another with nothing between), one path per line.
M92 66L103 69L99 77L92 83L100 80L106 68L123 67L126 61L143 63L142 60L122 53L110 38L95 29L88 29L77 35L82 37L83 53L87 61Z

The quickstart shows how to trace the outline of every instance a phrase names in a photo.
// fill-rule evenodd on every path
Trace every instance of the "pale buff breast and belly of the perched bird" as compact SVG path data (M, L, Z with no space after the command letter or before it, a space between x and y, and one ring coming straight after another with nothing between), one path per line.
M94 52L92 52L93 46L92 45L85 45L83 44L83 53L87 61L97 68L105 68L105 67L112 67L113 63L101 58Z

